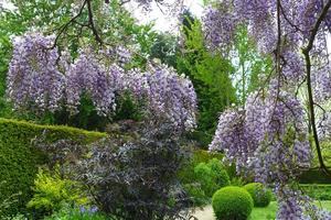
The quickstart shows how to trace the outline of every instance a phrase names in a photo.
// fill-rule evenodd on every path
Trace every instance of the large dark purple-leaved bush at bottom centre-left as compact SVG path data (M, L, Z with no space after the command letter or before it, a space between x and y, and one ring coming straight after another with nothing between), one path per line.
M119 124L109 128L114 135L88 146L90 150L79 163L71 167L74 178L85 184L99 211L116 219L173 219L186 206L184 191L177 173L186 157L181 140L167 125L151 129L142 123ZM135 128L135 129L132 129ZM65 145L64 141L61 141ZM73 142L58 147L75 152ZM47 148L56 148L52 145ZM57 152L58 155L65 155ZM62 158L56 156L54 158ZM55 160L55 161L56 161Z

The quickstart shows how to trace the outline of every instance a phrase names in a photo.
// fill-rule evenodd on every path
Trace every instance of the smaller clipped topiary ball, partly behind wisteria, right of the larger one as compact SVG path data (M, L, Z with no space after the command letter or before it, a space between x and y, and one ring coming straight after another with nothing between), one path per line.
M252 183L244 186L250 194L255 207L267 207L271 201L271 190L264 187L260 183Z

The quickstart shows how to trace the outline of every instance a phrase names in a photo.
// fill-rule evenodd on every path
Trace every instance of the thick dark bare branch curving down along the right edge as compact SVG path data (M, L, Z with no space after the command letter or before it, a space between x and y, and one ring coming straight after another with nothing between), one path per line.
M311 30L311 34L308 41L308 45L302 48L302 53L305 55L306 61L306 74L307 74L307 90L308 90L308 101L309 101L309 114L310 114L310 122L311 122L311 129L313 134L313 140L318 153L318 160L320 163L320 168L331 176L331 172L328 169L323 162L321 146L319 143L318 132L317 132L317 125L316 125L316 116L314 116L314 101L313 101L313 95L312 95L312 86L311 86L311 59L310 59L310 51L312 50L317 33L320 29L321 23L325 19L328 11L331 7L331 0L328 1L328 3L324 6L323 10L321 11L317 22L313 25L313 29Z

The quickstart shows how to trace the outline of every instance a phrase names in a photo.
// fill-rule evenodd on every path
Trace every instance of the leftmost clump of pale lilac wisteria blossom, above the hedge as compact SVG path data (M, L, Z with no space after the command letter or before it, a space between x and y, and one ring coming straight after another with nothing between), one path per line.
M54 37L25 34L13 41L13 56L7 76L7 95L15 110L55 111L60 108L65 76L57 68Z

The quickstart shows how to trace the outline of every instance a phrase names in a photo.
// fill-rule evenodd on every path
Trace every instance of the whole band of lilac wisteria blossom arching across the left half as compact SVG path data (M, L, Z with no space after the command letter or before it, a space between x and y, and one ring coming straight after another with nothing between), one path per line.
M166 65L146 72L125 68L130 53L122 46L96 52L79 51L73 59L52 48L53 37L32 33L18 37L8 74L8 97L15 110L77 113L81 98L88 96L98 114L110 116L116 98L131 92L146 103L147 118L170 123L174 130L195 127L196 95L192 82Z

